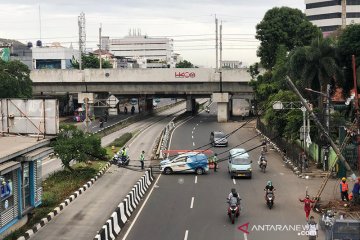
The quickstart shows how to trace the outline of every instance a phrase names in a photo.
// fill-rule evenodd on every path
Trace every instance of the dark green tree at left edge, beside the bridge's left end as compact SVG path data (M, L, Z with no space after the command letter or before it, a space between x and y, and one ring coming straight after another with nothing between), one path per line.
M0 60L0 98L30 98L31 85L30 70L25 64Z

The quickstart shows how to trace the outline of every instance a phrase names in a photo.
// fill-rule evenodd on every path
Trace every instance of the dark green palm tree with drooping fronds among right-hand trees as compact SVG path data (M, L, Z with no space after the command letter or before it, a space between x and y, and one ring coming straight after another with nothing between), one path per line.
M324 92L327 84L342 80L335 47L329 38L314 39L310 46L295 49L289 58L289 74L299 79L303 87ZM318 107L322 108L322 98L319 98Z

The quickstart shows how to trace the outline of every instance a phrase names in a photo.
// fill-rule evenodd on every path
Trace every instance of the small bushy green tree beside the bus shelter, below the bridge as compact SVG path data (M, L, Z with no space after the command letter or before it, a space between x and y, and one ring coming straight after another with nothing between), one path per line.
M70 162L105 159L106 150L101 147L101 140L95 135L85 134L74 125L64 125L53 144L54 152L61 159L65 168L73 169Z

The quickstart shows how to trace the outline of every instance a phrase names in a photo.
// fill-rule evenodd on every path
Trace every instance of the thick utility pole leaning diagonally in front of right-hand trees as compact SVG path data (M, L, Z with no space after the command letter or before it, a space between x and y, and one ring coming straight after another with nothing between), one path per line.
M308 104L306 103L306 100L302 97L302 95L300 94L299 90L296 88L296 86L294 85L294 83L291 81L291 79L287 76L286 77L287 82L289 83L290 87L292 88L292 90L295 92L295 94L300 98L302 104L304 105L304 107L306 108L306 110L308 110L309 114L311 115L311 117L313 118L315 124L320 128L320 130L325 133L325 137L327 138L327 140L329 141L331 147L334 149L336 155L338 156L339 160L345 165L345 168L347 171L349 171L351 173L351 177L353 179L356 179L356 175L354 173L354 171L351 169L350 165L347 163L346 159L344 158L344 156L341 154L340 149L336 146L336 144L334 143L334 141L330 138L330 136L328 134L326 134L326 130L323 127L323 125L320 123L319 119L316 117L316 115L314 114L314 112L310 109L310 107L308 106Z

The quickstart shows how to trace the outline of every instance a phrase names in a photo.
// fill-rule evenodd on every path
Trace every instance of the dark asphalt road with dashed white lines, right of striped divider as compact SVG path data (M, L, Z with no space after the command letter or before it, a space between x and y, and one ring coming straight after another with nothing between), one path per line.
M202 113L177 127L171 149L205 146L212 130L229 133L242 125L243 122L217 123L214 107L210 114ZM253 126L254 123L246 124L231 135L229 147L211 149L218 153L220 159L226 159L230 148L255 137ZM261 139L255 137L241 147L251 149L260 143ZM273 151L267 154L269 165L266 173L262 173L257 166L259 154L260 148L249 152L253 160L252 179L231 179L226 161L219 164L218 172L211 171L202 176L160 175L136 221L131 220L127 231L117 239L307 239L298 235L305 224L303 205L298 198L304 197L306 186L309 194L315 195L321 179L297 178L283 165L280 155ZM272 210L267 208L264 200L263 189L268 180L272 180L277 189ZM242 212L234 225L226 215L226 197L233 187L242 198ZM331 193L332 188L333 185L329 184L325 192ZM243 224L248 224L248 229L246 225L243 229L249 234L238 229ZM324 239L322 232L319 239Z

